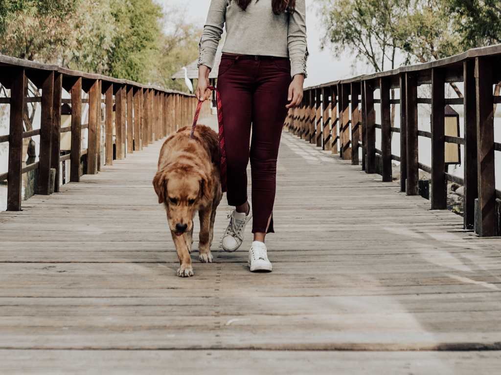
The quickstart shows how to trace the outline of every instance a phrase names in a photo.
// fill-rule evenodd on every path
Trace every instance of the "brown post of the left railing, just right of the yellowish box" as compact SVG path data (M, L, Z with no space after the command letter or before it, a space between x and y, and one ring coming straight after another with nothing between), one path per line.
M80 148L82 148L82 77L78 77L71 87L71 182L80 182Z

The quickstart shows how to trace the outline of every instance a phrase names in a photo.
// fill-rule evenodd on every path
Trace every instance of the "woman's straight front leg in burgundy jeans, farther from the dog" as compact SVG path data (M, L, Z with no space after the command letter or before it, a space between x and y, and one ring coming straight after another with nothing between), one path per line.
M277 156L287 116L291 75L287 60L263 60L253 100L253 132L250 145L252 170L253 233L264 242L273 232Z

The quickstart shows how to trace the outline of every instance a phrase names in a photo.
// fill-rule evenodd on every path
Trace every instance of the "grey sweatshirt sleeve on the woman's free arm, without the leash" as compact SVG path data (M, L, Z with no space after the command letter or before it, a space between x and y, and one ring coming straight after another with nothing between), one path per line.
M289 16L287 34L289 56L291 58L291 75L304 74L306 78L306 60L308 47L306 44L306 4L305 0L296 1L296 10Z

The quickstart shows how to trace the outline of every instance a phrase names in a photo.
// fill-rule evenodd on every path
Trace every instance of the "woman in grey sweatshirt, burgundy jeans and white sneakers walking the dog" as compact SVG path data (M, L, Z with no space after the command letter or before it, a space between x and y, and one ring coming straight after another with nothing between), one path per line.
M200 39L200 100L210 97L209 71L226 27L217 87L223 108L228 204L235 206L222 238L226 251L243 241L253 218L251 271L271 271L265 236L274 232L277 156L288 108L301 102L306 77L305 0L212 0ZM252 141L250 130L252 125ZM250 149L249 149L250 143ZM252 171L252 213L246 167Z

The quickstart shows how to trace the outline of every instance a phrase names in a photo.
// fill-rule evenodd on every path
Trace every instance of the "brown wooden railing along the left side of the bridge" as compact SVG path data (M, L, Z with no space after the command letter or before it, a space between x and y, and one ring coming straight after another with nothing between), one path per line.
M28 97L28 81L41 90L41 96ZM197 103L193 95L184 92L5 55L0 55L0 83L11 92L10 97L0 97L0 103L10 104L9 134L0 135L0 143L9 142L9 169L0 174L0 181L8 181L7 209L15 211L21 210L23 173L38 170L38 194L59 191L61 161L70 160L70 181L78 182L82 173L95 174L102 164L110 165L114 158L123 159L190 124ZM63 90L68 91L71 99L62 98ZM83 93L88 99L82 98ZM27 102L41 103L39 129L24 131ZM71 126L63 128L62 104L71 105ZM85 124L82 105L89 108L89 121ZM82 149L85 128L88 146ZM101 129L105 134L101 134ZM71 149L61 155L60 137L67 131L71 131ZM23 166L23 139L37 135L39 160ZM103 148L105 160L101 160Z

